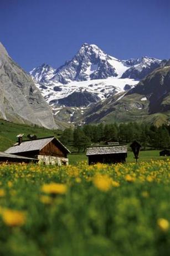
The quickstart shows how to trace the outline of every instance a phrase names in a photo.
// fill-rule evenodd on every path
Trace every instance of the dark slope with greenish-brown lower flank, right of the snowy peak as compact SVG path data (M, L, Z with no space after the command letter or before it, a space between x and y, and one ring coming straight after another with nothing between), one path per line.
M170 61L141 80L128 92L112 95L88 109L80 121L127 122L140 121L156 125L170 121Z

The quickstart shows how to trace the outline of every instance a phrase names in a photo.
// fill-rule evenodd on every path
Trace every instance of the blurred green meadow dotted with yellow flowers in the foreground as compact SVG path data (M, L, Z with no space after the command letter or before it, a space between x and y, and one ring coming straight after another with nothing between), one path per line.
M170 164L0 165L0 255L168 256Z

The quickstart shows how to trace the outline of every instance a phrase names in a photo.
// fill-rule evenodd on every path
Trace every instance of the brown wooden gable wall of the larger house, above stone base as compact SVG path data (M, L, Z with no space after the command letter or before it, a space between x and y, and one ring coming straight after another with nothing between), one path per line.
M47 156L59 156L59 157L66 157L66 154L59 149L58 146L53 141L50 141L46 146L43 147L42 150L39 152L40 155L47 155Z

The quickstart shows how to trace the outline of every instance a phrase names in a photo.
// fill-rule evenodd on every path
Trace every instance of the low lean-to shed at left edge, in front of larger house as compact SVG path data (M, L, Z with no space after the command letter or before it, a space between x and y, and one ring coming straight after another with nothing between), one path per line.
M0 152L0 164L37 163L38 159Z

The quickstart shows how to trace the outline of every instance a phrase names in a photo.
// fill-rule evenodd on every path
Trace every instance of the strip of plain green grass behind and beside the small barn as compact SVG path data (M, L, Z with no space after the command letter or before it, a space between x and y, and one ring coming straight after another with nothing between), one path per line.
M141 151L138 161L141 162L141 161L151 161L151 160L164 160L164 159L168 158L168 157L164 157L164 156L159 156L159 151L160 150ZM70 155L68 155L68 157L69 157L69 164L71 164L71 165L76 165L79 163L79 161L85 161L86 163L88 161L88 158L85 155L85 153L70 154ZM134 159L133 152L128 151L126 162L127 163L131 163L131 162L135 163L135 161L136 160Z

